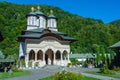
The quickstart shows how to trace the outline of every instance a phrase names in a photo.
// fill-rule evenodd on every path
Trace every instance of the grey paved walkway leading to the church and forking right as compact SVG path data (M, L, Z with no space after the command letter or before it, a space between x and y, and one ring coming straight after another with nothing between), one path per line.
M62 68L62 67L56 67L56 66L47 66L45 68L41 68L41 69L34 69L34 70L30 70L31 74L27 75L27 76L21 76L21 77L14 77L14 78L9 78L9 79L4 79L4 80L38 80L38 79L42 79L44 77L48 77L51 75L54 75L56 72L59 72L63 69L66 69L68 71L73 71L73 72L77 72L77 73L81 73L85 76L90 76L90 77L94 77L94 78L98 78L101 80L120 80L117 78L112 78L112 77L106 77L106 76L100 76L100 75L93 75L93 74L89 74L89 73L85 73L85 71L98 71L98 69L88 69L88 68Z

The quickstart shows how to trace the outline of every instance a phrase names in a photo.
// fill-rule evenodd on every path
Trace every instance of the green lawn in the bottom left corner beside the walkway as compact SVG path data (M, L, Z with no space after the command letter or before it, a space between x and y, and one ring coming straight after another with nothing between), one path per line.
M23 76L23 75L28 75L30 74L29 71L24 70L24 71L19 71L19 72L13 72L12 74L8 72L0 72L0 80L4 78L12 78L12 77L18 77L18 76Z

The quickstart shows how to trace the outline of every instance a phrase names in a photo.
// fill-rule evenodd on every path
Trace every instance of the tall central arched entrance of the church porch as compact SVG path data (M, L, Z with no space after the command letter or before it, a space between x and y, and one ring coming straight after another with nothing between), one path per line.
M47 65L53 65L54 53L51 49L48 49L45 53L45 62Z

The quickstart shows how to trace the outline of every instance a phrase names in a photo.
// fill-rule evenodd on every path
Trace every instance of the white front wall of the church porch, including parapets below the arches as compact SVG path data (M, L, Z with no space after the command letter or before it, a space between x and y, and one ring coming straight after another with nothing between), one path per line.
M51 49L54 53L54 55L56 54L56 52L59 50L61 55L63 54L64 51L66 51L69 55L70 52L70 46L69 46L69 42L64 42L64 44L53 37L46 37L46 38L42 38L42 39L27 39L26 40L26 46L27 46L27 56L26 56L26 67L28 66L28 54L31 50L34 50L35 54L38 53L39 50L41 50L43 52L43 55L45 55L46 51L48 49ZM69 57L69 56L68 56ZM67 57L67 58L68 58ZM38 60L39 61L39 60ZM33 63L35 63L35 61L33 61ZM60 65L60 66L67 66L67 64L69 63L69 59L65 59L65 60L54 60L53 63L54 65ZM39 67L43 67L45 66L45 61L39 61Z

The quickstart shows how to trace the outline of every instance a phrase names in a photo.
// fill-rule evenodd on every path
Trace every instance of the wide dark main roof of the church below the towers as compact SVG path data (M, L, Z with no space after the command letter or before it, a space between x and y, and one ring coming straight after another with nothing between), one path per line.
M60 40L67 40L67 41L76 41L77 39L67 36L67 34L57 31L51 31L49 29L32 29L32 30L25 30L25 33L18 37L18 40L25 40L25 39L40 39L46 36L56 37Z

